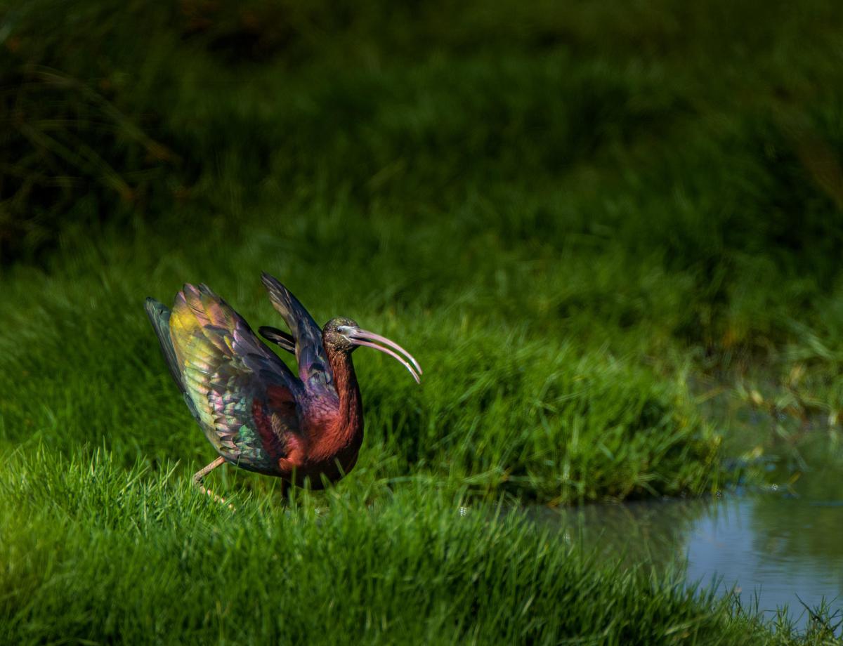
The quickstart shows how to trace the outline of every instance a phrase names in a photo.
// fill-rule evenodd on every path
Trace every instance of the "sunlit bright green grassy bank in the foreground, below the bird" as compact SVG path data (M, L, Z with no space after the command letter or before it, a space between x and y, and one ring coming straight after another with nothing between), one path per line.
M8 643L821 643L598 563L430 483L236 513L163 466L30 447L3 470ZM376 502L368 504L368 499Z

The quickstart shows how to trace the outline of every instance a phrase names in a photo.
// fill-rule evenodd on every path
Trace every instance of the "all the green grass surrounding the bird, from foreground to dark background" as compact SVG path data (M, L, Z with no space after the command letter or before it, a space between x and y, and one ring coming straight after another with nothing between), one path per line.
M494 505L840 462L836 3L58 4L0 17L5 641L828 637ZM278 324L261 270L425 378L358 352L354 472L229 515L142 302Z

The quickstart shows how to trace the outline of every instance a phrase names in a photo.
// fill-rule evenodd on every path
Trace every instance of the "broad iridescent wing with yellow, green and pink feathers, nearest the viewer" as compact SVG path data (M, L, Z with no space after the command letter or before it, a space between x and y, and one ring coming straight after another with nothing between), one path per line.
M298 441L301 382L207 286L176 295L169 336L185 401L217 452L277 473Z

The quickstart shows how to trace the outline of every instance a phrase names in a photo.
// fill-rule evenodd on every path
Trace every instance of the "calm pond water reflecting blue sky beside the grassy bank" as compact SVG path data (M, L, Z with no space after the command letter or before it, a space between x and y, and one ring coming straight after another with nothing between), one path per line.
M843 608L843 472L809 473L792 487L719 498L543 510L566 540L630 562L681 564L690 584L719 581L765 613L787 606L804 627L825 599Z

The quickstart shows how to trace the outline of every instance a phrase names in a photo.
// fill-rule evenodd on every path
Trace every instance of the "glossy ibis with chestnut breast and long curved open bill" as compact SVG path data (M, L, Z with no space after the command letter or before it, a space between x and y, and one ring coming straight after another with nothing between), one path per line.
M225 462L311 489L336 483L352 470L363 438L352 363L358 347L386 353L421 383L418 362L395 341L346 317L319 328L276 278L264 272L261 279L290 334L270 326L258 332L295 355L298 376L204 284L185 284L172 309L151 297L145 303L170 375L217 451L194 483L223 502L203 486L203 478Z

